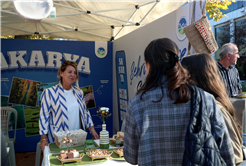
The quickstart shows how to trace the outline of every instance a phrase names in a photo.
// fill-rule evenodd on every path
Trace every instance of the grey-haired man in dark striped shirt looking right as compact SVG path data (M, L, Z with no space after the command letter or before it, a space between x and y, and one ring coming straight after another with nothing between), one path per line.
M221 47L218 67L229 97L242 93L242 85L240 83L238 70L232 66L237 64L238 58L240 57L236 44L227 43Z

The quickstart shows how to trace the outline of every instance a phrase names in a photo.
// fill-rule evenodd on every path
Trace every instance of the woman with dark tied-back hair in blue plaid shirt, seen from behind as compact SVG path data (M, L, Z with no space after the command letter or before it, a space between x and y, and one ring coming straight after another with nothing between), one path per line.
M147 73L143 86L128 103L124 158L140 166L182 165L185 136L195 92L179 62L179 48L168 38L153 40L144 52ZM204 92L214 139L227 165L233 148L214 97Z

